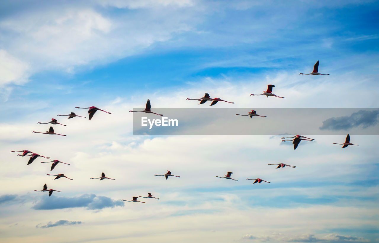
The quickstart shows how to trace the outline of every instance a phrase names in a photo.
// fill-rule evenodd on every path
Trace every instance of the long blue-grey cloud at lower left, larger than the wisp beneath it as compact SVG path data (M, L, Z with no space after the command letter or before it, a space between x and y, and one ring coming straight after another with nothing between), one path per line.
M123 206L124 202L114 201L105 196L96 196L95 194L83 194L78 197L43 197L32 208L36 210L66 209L75 207L86 207L87 209L103 209L106 207Z

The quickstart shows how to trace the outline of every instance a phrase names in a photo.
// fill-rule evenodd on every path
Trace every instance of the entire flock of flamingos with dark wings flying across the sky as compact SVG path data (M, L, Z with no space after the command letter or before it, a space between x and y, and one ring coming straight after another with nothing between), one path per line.
M305 74L305 75L329 75L329 74L320 74L320 73L318 73L318 65L319 65L319 61L317 61L316 64L315 64L315 66L313 67L313 72L310 73L310 74ZM303 74L303 73L301 73L301 74ZM267 86L268 86L267 91L263 91L263 94L251 94L251 96L265 95L266 97L274 96L274 97L278 97L278 98L284 99L284 97L276 96L275 94L273 94L272 91L273 91L273 88L275 87L274 85L267 85ZM210 96L209 96L208 93L205 93L204 97L201 97L199 99L189 99L189 98L187 98L187 100L197 100L197 101L200 101L199 105L200 104L204 104L205 102L212 100L212 103L211 103L210 106L215 105L219 101L220 102L234 103L234 102L229 102L229 101L226 101L226 100L223 100L223 99L220 99L220 98L214 98L214 99L212 99L212 98L210 98ZM99 109L97 107L94 107L94 106L87 107L87 108L83 108L83 107L75 107L75 108L88 109L88 114L89 114L88 120L92 119L92 117L94 116L94 114L96 113L97 110L103 111L103 112L108 113L108 114L112 114L111 112L108 112L108 111L105 111L105 110L101 110L101 109ZM145 110L143 110L143 111L130 111L130 112L144 112L144 113L152 113L152 114L157 114L159 116L163 116L163 114L158 114L158 113L154 113L154 112L151 111L151 104L150 104L150 100L149 99L147 100ZM238 116L250 116L250 118L252 118L253 116L260 116L260 115L256 114L256 111L254 111L254 110L251 110L251 112L249 112L249 114L246 114L246 115L236 114L236 116L237 115ZM74 117L76 117L78 115L75 114L74 112L71 112L68 115L58 115L58 116L68 116L68 119L71 119L71 118L74 118ZM85 118L85 116L78 116L78 117ZM266 116L260 116L260 117L266 117ZM53 125L60 124L60 125L63 125L61 123L58 123L58 121L56 119L54 119L54 118L52 118L52 121L50 121L50 122L46 122L46 123L38 122L38 124L53 124ZM63 125L63 126L66 126L66 125ZM34 132L33 131L33 133L44 133L44 134L50 134L50 135L66 136L66 135L62 135L62 134L59 134L59 133L55 133L52 126L50 126L49 131L46 131L46 132ZM294 145L293 149L296 149L298 147L298 145L301 142L301 140L305 140L305 141L313 141L314 140L313 138L307 138L307 137L301 136L301 135L295 135L295 136L287 137L287 138L293 138L293 139L291 139L291 140L282 140L282 142L293 141L293 145ZM285 138L283 137L282 139L285 139ZM345 143L334 143L334 144L343 144L342 148L345 148L345 147L347 147L349 145L359 145L359 144L352 144L352 143L350 143L350 135L349 134L346 136ZM31 151L28 151L28 150L11 151L11 152L22 152L22 154L18 154L19 156L22 156L22 157L28 157L28 156L30 156L27 165L30 165L38 157L43 157L43 158L51 159L50 157L45 157L45 156L33 153ZM28 155L29 153L30 153L30 155ZM58 165L58 163L63 163L63 164L66 164L66 165L70 165L69 163L64 163L64 162L61 162L59 160L42 161L41 163L52 163L50 171L52 171L55 168L55 166ZM288 167L291 167L291 168L296 168L296 166L286 165L286 164L283 164L283 163L268 164L268 165L277 165L276 169L284 168L285 166L288 166ZM231 174L233 174L233 172L228 171L227 174L224 175L224 177L220 177L220 176L216 176L216 177L225 178L225 179L232 179L232 180L235 180L235 181L238 182L238 180L231 178ZM56 176L54 180L60 179L61 177L65 177L65 178L67 178L69 180L73 180L73 179L65 176L64 174L56 174L56 175L46 174L46 175L47 176ZM171 174L171 171L167 171L167 173L165 173L163 175L155 175L155 176L164 176L164 177L166 177L166 180L167 180L169 176L174 176L174 175ZM174 177L180 177L180 176L174 176ZM110 179L110 180L115 180L115 179L112 179L112 178L109 178L109 177L105 177L105 173L104 172L102 172L101 177L96 177L96 178L91 177L91 179L100 179L100 180ZM260 178L256 178L256 179L249 179L249 178L247 178L246 180L254 180L253 184L255 184L255 183L261 183L262 181L263 182L267 182L267 183L271 183L271 182L262 180ZM49 191L49 196L51 196L52 193L53 193L53 191L57 191L57 190L53 190L53 189L47 190L47 184L45 184L43 186L42 190L34 190L34 191ZM57 192L61 192L61 191L57 191ZM153 197L151 193L148 193L147 197L143 197L143 196L135 197L134 196L133 200L128 201L128 200L122 199L122 201L141 202L141 201L138 201L137 198L155 198L155 197ZM159 199L159 198L155 198L155 199ZM142 203L145 203L145 202L142 202Z

